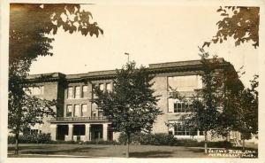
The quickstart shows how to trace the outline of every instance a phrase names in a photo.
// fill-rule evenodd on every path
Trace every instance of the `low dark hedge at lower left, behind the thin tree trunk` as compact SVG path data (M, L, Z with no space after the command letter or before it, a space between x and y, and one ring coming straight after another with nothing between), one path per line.
M8 136L8 144L15 144L16 137ZM50 144L50 134L33 134L33 135L21 135L19 136L20 144Z

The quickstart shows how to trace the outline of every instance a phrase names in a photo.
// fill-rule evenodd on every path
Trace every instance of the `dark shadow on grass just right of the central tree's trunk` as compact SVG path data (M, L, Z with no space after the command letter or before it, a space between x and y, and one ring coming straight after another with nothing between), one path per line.
M135 151L130 152L132 158L169 158L173 151Z

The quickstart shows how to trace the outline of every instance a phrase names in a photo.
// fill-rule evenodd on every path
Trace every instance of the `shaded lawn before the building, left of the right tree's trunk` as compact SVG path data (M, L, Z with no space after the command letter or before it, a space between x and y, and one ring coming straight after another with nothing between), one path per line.
M19 144L19 156L15 156L14 145L8 146L8 157L83 157L125 158L124 145L102 144ZM131 145L131 158L202 158L208 157L203 149L183 146Z

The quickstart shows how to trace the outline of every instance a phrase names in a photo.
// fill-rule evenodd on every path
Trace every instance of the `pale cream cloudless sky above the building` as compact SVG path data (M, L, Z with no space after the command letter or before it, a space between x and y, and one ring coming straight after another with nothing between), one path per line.
M130 60L137 65L199 59L199 49L216 35L216 22L222 17L219 6L179 6L175 4L90 4L82 6L92 12L93 21L104 30L103 35L72 35L59 30L52 35L52 57L40 57L31 66L30 74L79 74L111 70ZM235 47L231 38L206 48L210 54L231 62L236 70L244 66L242 82L258 74L259 50L252 43Z

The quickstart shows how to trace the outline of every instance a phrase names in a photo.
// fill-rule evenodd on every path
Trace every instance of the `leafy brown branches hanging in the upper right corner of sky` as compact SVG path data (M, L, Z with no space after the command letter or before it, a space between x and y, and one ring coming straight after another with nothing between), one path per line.
M223 19L216 23L216 35L210 42L205 42L202 48L210 43L223 43L227 37L235 39L235 46L249 41L253 42L254 48L259 46L259 7L220 6L217 12L221 13Z

